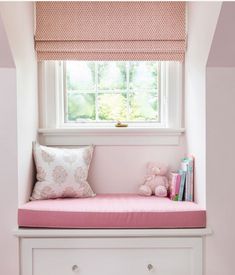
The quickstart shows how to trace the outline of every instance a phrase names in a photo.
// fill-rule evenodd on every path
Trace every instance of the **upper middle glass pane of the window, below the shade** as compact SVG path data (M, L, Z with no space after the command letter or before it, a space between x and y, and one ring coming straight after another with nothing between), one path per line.
M126 63L99 62L98 88L100 90L126 89Z

